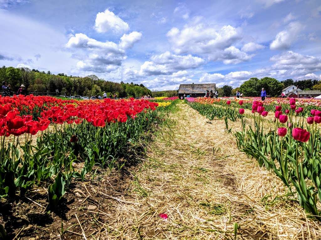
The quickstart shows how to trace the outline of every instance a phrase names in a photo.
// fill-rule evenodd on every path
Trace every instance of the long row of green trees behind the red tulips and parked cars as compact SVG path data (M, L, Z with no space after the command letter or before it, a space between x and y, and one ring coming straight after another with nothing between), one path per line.
M67 76L64 73L57 75L48 72L40 72L37 69L29 68L0 68L0 81L6 81L11 85L13 92L17 92L21 84L24 84L27 91L33 93L50 92L55 93L58 89L59 93L64 95L81 95L81 96L101 96L103 92L109 94L117 94L118 97L142 97L151 95L152 92L143 84L134 83L115 83L105 81L96 75L85 77Z

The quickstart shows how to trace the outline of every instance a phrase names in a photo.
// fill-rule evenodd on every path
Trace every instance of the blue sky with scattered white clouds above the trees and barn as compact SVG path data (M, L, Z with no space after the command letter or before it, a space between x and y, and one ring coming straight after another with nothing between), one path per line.
M153 90L321 79L321 2L0 0L0 65Z

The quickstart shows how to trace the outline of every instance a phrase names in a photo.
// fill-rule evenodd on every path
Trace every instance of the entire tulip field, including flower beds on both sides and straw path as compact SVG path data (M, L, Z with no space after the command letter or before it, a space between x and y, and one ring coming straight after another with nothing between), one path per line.
M319 239L318 100L0 97L0 239Z

